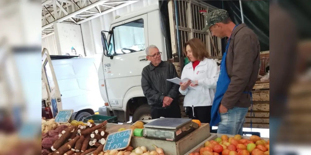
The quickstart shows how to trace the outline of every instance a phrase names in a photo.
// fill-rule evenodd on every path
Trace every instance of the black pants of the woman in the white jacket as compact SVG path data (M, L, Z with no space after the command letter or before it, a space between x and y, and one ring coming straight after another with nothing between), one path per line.
M211 122L211 109L212 106L203 106L203 107L186 107L186 114L190 119L197 119L201 123L210 123ZM194 117L193 117L194 112ZM212 127L210 126L210 130Z

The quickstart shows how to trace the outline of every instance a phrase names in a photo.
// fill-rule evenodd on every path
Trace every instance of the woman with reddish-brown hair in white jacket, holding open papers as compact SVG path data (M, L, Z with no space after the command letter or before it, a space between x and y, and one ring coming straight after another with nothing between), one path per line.
M191 62L183 68L181 79L188 78L192 81L180 83L179 92L185 95L183 106L189 118L210 123L220 70L214 60L208 59L206 45L200 39L190 39L184 44L183 51ZM193 86L195 90L188 86Z

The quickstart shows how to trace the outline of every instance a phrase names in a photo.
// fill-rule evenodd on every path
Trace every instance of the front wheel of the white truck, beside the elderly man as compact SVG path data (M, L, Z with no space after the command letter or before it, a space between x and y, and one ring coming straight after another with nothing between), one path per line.
M151 120L151 107L148 104L139 106L133 113L132 122L139 120Z

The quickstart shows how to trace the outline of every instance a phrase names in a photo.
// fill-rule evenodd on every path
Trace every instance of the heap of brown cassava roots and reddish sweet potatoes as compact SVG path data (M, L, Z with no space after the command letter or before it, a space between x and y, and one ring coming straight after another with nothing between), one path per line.
M95 125L60 125L42 135L42 155L98 155L103 151L107 121Z

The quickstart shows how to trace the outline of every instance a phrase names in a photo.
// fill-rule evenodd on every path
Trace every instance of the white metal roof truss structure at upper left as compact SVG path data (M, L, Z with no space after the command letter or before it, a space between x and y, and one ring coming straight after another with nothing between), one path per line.
M81 24L139 0L42 0L42 38L54 34L55 22Z

